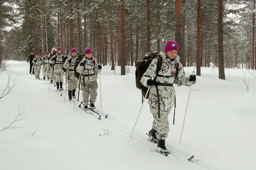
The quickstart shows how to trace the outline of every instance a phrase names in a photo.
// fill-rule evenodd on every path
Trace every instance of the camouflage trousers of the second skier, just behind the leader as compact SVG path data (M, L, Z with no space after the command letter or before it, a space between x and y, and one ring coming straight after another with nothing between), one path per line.
M89 94L90 94L90 103L95 103L97 98L97 89L98 89L98 83L97 80L94 80L92 82L84 82L83 84L83 78L81 78L80 87L83 97L83 105L87 106L89 102Z

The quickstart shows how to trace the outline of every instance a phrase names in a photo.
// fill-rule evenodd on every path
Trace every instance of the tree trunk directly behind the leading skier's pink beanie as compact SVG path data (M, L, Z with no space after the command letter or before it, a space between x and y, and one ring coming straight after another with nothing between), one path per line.
M182 28L181 28L181 0L175 0L175 41L179 47L182 47ZM180 62L185 64L185 58L182 58L182 50L178 50L177 55L180 56Z

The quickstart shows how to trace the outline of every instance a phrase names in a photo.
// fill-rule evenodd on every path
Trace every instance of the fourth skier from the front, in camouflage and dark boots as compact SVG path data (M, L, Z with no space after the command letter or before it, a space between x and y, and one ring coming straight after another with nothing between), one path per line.
M63 91L62 85L63 85L63 61L64 61L64 56L62 49L59 47L57 48L57 53L52 57L51 59L53 61L53 72L54 72L54 77L56 78L56 86L57 90Z

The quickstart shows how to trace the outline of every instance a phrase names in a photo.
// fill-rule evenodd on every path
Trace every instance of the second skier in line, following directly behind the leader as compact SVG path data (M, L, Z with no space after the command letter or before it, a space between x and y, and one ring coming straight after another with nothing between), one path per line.
M95 108L95 101L97 98L97 89L98 89L98 74L101 72L101 65L99 65L95 58L91 56L91 49L87 47L84 50L84 58L79 63L79 65L76 67L76 72L81 74L80 77L80 86L83 97L83 105L84 110L88 109L88 103L89 103L89 94L90 94L90 107L91 109Z

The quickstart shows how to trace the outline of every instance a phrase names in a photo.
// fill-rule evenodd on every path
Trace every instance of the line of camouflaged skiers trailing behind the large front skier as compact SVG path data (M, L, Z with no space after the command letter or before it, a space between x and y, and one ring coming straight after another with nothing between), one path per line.
M41 57L41 54L34 56L34 52L32 51L27 62L30 64L30 74L32 72L36 79L40 79L42 69L43 80L46 79L46 76L51 84L55 80L57 91L63 91L63 76L65 74L69 102L72 101L72 98L75 98L76 88L80 84L81 90L83 91L84 109L88 109L89 95L90 107L91 109L95 108L94 103L98 94L97 79L102 67L95 62L95 58L92 57L92 51L89 47L84 50L84 55L81 56L79 56L75 48L72 48L66 56L64 56L60 47L57 49L52 48L50 55L48 52L45 52L43 57ZM76 68L75 63L78 63Z

